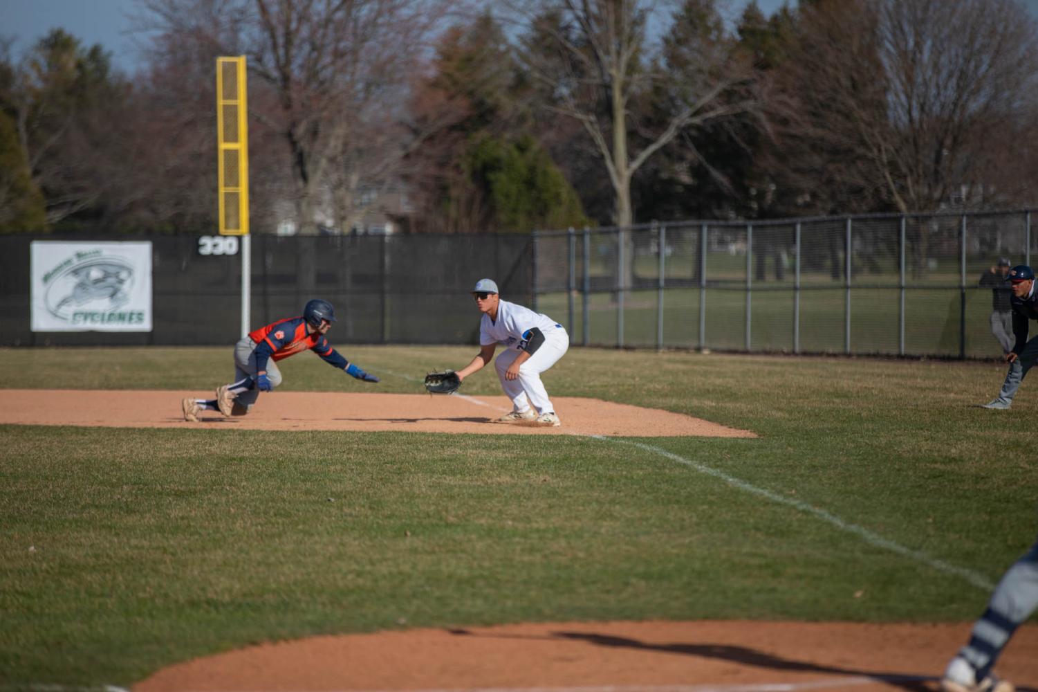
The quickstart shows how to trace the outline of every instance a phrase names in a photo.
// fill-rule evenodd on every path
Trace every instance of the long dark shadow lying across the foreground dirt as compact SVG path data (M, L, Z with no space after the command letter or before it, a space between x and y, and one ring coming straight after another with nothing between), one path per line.
M474 634L468 630L450 630L450 634L468 635L481 637L519 637L529 638L524 635L492 635ZM818 665L803 661L793 661L783 659L771 654L759 651L745 646L732 646L730 644L649 644L637 639L628 637L617 637L613 635L600 635L589 632L553 632L550 637L535 637L537 639L578 639L598 646L611 646L623 648L635 648L649 651L664 651L667 654L682 654L684 656L698 656L704 659L718 659L731 661L746 666L758 668L768 668L771 670L790 670L798 672L832 673L837 675L854 675L871 677L877 682L895 687L907 692L933 692L934 683L937 677L932 675L905 675L903 673L877 672L872 670L858 670L855 668L842 668L839 666ZM1023 688L1017 688L1022 692Z

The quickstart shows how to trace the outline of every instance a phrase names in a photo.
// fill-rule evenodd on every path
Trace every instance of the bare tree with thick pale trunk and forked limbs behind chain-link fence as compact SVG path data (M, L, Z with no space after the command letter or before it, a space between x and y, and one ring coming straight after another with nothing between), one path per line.
M541 0L532 9L512 8L532 27L522 57L544 87L547 108L578 122L601 157L618 225L634 221L631 178L653 154L682 131L754 107L749 71L728 42L689 47L696 59L680 79L660 69L648 26L670 19L674 3ZM738 89L746 91L732 98ZM643 117L654 92L670 106L659 124ZM632 133L638 134L636 147Z

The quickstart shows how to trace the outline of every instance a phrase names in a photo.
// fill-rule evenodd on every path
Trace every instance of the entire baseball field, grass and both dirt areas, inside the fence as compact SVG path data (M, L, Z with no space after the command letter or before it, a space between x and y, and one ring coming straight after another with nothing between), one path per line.
M1038 530L996 363L573 348L511 433L336 346L248 427L176 420L229 347L0 349L0 690L934 690Z

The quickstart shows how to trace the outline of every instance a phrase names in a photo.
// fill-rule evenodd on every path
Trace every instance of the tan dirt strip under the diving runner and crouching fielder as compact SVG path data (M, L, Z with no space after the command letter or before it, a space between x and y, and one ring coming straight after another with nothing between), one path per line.
M209 427L258 430L403 430L483 434L597 434L665 437L756 437L690 416L598 399L554 399L559 428L493 423L512 410L508 398L428 394L276 392L264 394L248 416L206 411L198 423L181 414L181 399L212 392L4 390L18 406L0 410L0 423L132 428Z

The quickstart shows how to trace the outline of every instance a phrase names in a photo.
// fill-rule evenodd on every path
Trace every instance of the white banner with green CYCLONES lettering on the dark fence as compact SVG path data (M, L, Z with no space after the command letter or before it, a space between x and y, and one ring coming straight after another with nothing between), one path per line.
M33 331L151 331L152 243L31 243Z

